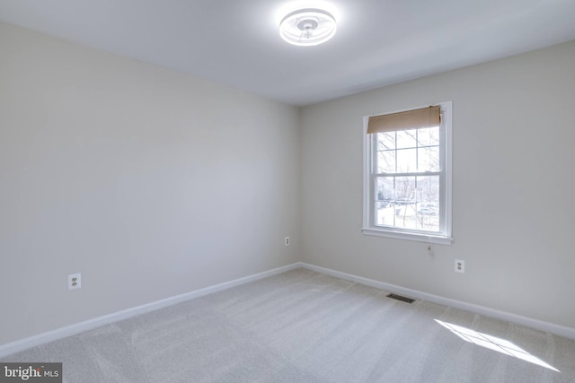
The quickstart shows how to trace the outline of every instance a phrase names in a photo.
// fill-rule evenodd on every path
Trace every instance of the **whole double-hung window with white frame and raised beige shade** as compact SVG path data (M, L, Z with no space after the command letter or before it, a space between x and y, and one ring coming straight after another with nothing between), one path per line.
M451 243L451 101L364 118L363 233Z

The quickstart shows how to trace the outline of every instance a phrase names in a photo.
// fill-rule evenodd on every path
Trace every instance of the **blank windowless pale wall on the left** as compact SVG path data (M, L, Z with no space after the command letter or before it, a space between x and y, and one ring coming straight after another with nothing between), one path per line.
M299 259L298 109L7 24L0 52L0 344Z

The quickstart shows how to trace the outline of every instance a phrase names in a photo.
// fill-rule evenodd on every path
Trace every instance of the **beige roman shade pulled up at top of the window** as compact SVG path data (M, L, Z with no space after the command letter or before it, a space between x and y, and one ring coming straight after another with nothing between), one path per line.
M419 129L420 127L438 126L440 124L441 109L439 107L413 109L370 117L367 122L367 134Z

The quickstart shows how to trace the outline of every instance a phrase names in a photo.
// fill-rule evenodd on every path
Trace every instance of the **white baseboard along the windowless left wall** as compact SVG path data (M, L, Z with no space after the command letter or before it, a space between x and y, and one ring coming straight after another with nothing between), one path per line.
M30 347L35 347L40 344L46 344L55 341L57 339L65 338L66 336L76 335L84 331L92 330L96 327L108 325L110 323L117 322L122 319L135 317L140 314L145 314L146 312L154 311L155 309L163 309L164 307L180 303L184 300L191 300L193 298L208 295L212 292L220 292L222 290L226 290L243 283L250 283L263 278L267 278L275 274L285 273L289 270L293 270L299 267L301 267L301 265L297 263L292 265L285 265L262 273L252 274L245 276L243 278L234 279L233 281L229 281L226 283L219 283L213 286L205 287L203 289L195 290L193 292L186 292L180 295L175 295L173 297L166 298L164 300L156 300L151 303L146 303L145 305L133 307L130 309L124 309L118 312L111 313L109 315L104 315L102 317L93 318L86 320L84 322L76 323L71 326L57 328L55 330L48 331L46 333L33 335L31 337L15 341L13 343L3 344L0 346L0 358L6 355L10 355L12 353L21 352Z

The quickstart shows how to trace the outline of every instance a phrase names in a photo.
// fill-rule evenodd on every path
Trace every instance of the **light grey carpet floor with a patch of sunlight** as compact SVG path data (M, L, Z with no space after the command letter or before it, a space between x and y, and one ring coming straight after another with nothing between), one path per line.
M575 382L575 341L296 269L2 361L65 382Z

